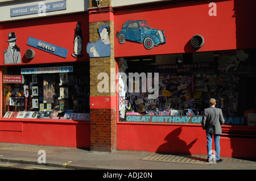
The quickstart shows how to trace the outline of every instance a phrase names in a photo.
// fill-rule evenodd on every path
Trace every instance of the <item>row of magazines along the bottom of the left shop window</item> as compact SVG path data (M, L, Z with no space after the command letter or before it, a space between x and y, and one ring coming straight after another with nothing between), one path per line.
M90 120L90 113L73 113L73 110L65 111L64 115L59 115L57 110L44 111L7 111L3 118L24 118L24 119L61 119L61 120Z

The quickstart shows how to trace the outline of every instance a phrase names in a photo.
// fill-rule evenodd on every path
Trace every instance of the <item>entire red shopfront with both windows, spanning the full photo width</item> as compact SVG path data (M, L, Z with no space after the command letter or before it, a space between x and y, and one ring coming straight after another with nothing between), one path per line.
M226 120L221 157L255 158L256 96L250 89L256 84L255 12L250 8L255 2L210 3L168 1L105 6L104 11L93 7L1 23L0 142L92 148L92 119L113 121L113 116L97 117L105 109L117 113L116 124L102 127L102 132L114 130L114 149L207 154L201 115L209 98L215 98ZM90 101L90 79L99 72L90 67L86 53L89 24L108 20L114 23L110 37L115 71L127 79L129 73L152 79L159 90L154 98L136 79L134 89L127 91L126 79L118 77L115 96L95 94ZM76 31L77 24L81 31ZM81 44L74 43L75 32ZM20 56L15 64L5 62L14 40ZM74 52L79 46L81 54ZM94 116L93 109L99 111ZM99 134L97 139L104 137Z

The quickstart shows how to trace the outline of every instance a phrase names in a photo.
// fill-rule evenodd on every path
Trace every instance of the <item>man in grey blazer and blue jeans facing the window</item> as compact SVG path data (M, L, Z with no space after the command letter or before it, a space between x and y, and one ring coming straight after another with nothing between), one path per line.
M220 134L222 133L221 125L224 124L225 120L220 108L216 108L216 100L209 100L209 108L204 110L202 119L202 127L205 129L207 134L207 151L208 159L212 156L212 135L214 136L214 144L216 150L216 162L221 162L220 159Z

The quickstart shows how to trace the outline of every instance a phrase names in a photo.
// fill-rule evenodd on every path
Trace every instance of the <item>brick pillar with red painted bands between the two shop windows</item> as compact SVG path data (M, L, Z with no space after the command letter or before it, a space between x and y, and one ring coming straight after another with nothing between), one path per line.
M101 10L96 7L94 0L90 1L89 9L89 37L95 43L100 39L98 28L108 24L110 26L111 56L90 58L90 150L109 151L116 150L116 121L117 98L115 91L110 92L115 86L115 58L114 58L114 21L110 1L101 2ZM113 71L114 70L114 71ZM109 77L109 91L97 90L99 73L106 73ZM112 78L112 81L110 81Z

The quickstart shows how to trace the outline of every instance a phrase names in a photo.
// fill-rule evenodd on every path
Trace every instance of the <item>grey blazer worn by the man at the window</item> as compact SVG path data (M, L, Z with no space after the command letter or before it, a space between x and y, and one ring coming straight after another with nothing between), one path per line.
M209 107L204 110L203 119L201 121L203 129L213 134L221 134L221 125L225 120L222 114L222 110L216 107Z

